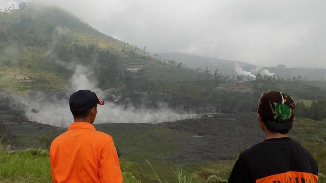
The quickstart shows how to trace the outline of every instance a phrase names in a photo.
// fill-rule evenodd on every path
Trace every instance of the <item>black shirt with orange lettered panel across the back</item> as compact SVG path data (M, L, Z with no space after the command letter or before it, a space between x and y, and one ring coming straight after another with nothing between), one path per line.
M291 138L267 139L244 151L228 183L315 183L318 166Z

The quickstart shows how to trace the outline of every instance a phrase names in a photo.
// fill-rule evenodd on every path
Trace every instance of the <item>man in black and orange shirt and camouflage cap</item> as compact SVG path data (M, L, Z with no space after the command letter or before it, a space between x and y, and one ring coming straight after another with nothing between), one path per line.
M316 160L287 136L295 120L291 96L264 93L257 111L266 140L241 153L228 183L316 183Z

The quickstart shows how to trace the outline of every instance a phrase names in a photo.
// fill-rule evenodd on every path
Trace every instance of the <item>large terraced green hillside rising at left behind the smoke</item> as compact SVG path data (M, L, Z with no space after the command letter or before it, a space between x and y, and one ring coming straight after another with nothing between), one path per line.
M2 88L62 90L76 65L93 71L103 89L123 86L129 76L163 81L196 78L192 72L160 62L136 44L97 31L60 7L23 5L0 12Z

